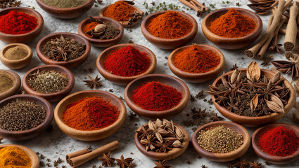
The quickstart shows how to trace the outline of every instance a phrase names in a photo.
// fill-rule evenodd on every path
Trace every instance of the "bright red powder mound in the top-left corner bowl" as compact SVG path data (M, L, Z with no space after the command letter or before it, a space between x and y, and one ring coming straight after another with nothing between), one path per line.
M5 34L26 34L37 28L37 18L12 10L0 16L0 31Z

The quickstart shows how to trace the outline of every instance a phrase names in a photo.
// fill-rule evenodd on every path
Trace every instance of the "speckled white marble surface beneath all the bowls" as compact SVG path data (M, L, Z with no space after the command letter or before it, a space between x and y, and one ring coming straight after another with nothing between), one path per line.
M148 3L151 2L151 0L146 0ZM155 0L156 3L158 2ZM201 1L201 0L200 0ZM37 6L37 3L34 0L23 0L21 6L34 6L35 10L39 11L39 13L42 14L44 17L45 25L44 25L44 31L42 31L42 34L35 39L32 43L29 43L30 47L32 50L34 50L34 56L32 59L32 62L30 62L29 65L25 66L25 68L16 70L21 78L23 78L25 72L28 70L32 69L35 66L43 65L39 58L37 57L37 54L35 52L35 46L37 45L37 42L39 39L41 39L43 36L46 36L47 34L51 34L54 32L74 32L77 33L77 27L79 25L79 22L81 20L84 20L84 18L87 18L89 15L94 16L98 15L98 11L103 8L103 6L106 6L110 3L113 3L113 0L103 0L103 3L101 5L98 5L98 7L92 7L91 10L89 10L86 14L82 15L80 18L77 18L75 20L60 20L58 18L53 18L51 15L48 13L45 13L44 10L39 8ZM203 2L203 1L201 1ZM205 3L208 5L209 3L215 3L216 8L224 8L224 7L229 7L229 6L236 6L236 2L240 3L241 8L248 8L246 6L246 3L248 1L245 0L233 0L233 2L227 4L227 5L222 5L221 0L209 0L205 1ZM136 6L141 8L141 10L146 11L144 6L142 5L144 3L144 0L136 0ZM184 6L182 3L180 3L178 0L167 0L166 3L174 3L177 6ZM151 5L150 5L151 6ZM182 8L181 8L182 10ZM204 15L201 18L196 17L196 13L193 10L186 10L186 13L189 13L196 18L198 21L198 34L196 38L191 41L191 43L204 43L204 44L209 44L213 45L208 41L205 36L203 36L203 33L201 31L201 21L203 20ZM267 26L267 20L269 18L269 15L262 16L262 21L264 23L264 31ZM281 38L281 37L280 37ZM138 43L140 45L144 45L148 48L150 48L156 55L158 59L158 65L157 68L155 69L155 73L165 73L174 76L174 74L170 71L169 67L167 66L167 57L170 54L170 50L161 50L154 45L151 45L151 43L148 43L146 41L146 38L141 34L140 30L140 24L137 25L132 29L132 32L129 32L129 29L125 29L125 36L120 41L120 43L128 43L129 40L134 41L134 43ZM3 48L6 45L6 43L0 42L0 48ZM231 66L233 64L237 64L241 68L245 68L248 66L248 64L251 62L252 59L246 57L243 54L243 50L222 50L224 53L224 56L226 58L226 64L224 71L229 71L231 69ZM96 69L96 58L98 55L103 51L103 48L91 48L91 55L89 56L89 59L87 59L84 64L81 66L78 66L75 69L71 69L72 73L75 76L75 87L72 90L73 92L77 92L79 90L88 90L89 88L84 85L82 80L87 77L87 74L95 77L96 75L100 75ZM276 53L267 53L269 54L274 54L274 59L284 59L283 55L279 55ZM259 64L261 63L260 60L255 60ZM92 68L94 69L93 73L89 73L88 69ZM262 66L262 68L265 69L271 69L271 66ZM6 66L0 63L0 69L8 69ZM289 79L289 76L287 76ZM213 80L210 80L208 83L202 83L202 84L192 84L192 83L186 83L189 86L189 89L191 91L191 94L196 94L201 90L207 90L208 85L212 83ZM108 80L105 80L104 78L101 79L101 82L103 83L103 87L100 87L99 90L109 90L113 89L113 94L115 94L117 97L123 96L125 87L123 86L118 86L118 85L113 85L110 83ZM206 99L210 99L209 95L205 96ZM53 104L53 108L55 108L56 104ZM177 115L176 117L172 118L175 123L182 124L182 120L189 120L190 117L186 116L186 113L189 113L189 109L193 108L194 106L196 107L201 107L202 109L208 109L208 110L215 110L215 107L213 105L208 104L208 102L203 102L203 99L197 100L196 102L189 102L188 106L182 113ZM293 123L291 119L291 113L293 113L294 109L290 111L284 118L281 118L279 122L281 123ZM127 108L128 114L131 112L129 108ZM120 148L116 151L113 151L111 155L114 158L120 158L120 155L124 155L125 158L131 157L134 158L134 163L136 163L136 167L154 167L153 160L146 158L146 156L142 155L138 149L136 148L134 144L134 131L136 130L137 127L140 125L143 125L146 123L147 120L142 119L142 118L135 118L132 121L129 121L129 118L126 118L125 124L122 126L122 128L116 133L113 134L113 136L108 137L107 139L103 139L101 141L93 141L93 142L85 142L85 141L77 141L75 139L72 139L65 135L59 128L56 126L55 121L53 120L53 132L44 132L41 134L39 137L29 140L29 141L9 141L7 139L4 139L2 141L2 144L20 144L27 146L29 148L32 148L33 151L42 153L46 158L51 159L51 165L53 167L53 160L56 160L58 157L65 159L65 155L67 153L72 153L74 151L78 151L82 148L87 148L87 146L92 146L93 148L98 148L99 146L103 146L104 144L108 144L110 141L118 140L120 141ZM135 124L137 126L135 126ZM297 124L298 126L298 124ZM189 132L189 135L191 136L193 134L193 127L185 127L185 129ZM248 131L250 134L255 130L256 128L250 128L248 127ZM168 165L172 165L172 167L201 167L201 165L206 165L207 167L226 167L227 163L218 163L218 162L211 162L209 160L206 160L205 158L198 159L196 158L197 153L192 151L190 148L179 158L176 158L175 160L170 160L168 162ZM258 162L262 162L262 164L265 166L265 160L262 160L255 155L253 152L253 149L250 147L249 151L243 156L243 158L247 158L248 161L252 160L257 160ZM190 160L191 165L188 165L186 163L187 160ZM46 160L44 160L46 163ZM92 160L91 162L88 162L85 165L82 165L82 167L91 167L92 165L99 166L101 165L101 161L99 160ZM63 162L63 165L67 165L65 160ZM292 164L285 165L284 167L298 167L299 166L299 161L293 162ZM59 166L61 167L61 165ZM70 167L67 165L67 167ZM282 166L276 166L276 165L269 165L265 167L282 167Z

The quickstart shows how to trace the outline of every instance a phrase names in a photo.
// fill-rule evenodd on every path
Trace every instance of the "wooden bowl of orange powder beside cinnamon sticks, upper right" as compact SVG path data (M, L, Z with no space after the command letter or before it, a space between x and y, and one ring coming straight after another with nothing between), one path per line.
M256 29L252 33L243 37L227 38L217 36L216 34L212 33L212 31L210 31L210 22L216 20L217 18L220 18L220 16L227 13L229 9L231 8L221 8L206 15L203 19L203 22L201 23L201 29L203 30L203 34L205 35L205 37L208 38L208 40L212 43L215 43L215 45L220 46L220 48L224 48L227 50L237 50L240 48L244 48L253 43L253 41L255 41L262 33L262 20L257 14L251 12L250 10L244 8L234 8L238 10L242 15L246 15L249 18L253 19L255 21Z

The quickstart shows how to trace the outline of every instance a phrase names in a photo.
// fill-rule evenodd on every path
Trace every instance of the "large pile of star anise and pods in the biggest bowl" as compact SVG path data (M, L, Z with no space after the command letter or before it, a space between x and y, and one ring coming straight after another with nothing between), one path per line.
M251 62L246 73L236 69L231 75L222 75L221 81L217 86L210 85L206 92L229 111L241 116L284 113L290 90L280 72L269 79L256 62Z

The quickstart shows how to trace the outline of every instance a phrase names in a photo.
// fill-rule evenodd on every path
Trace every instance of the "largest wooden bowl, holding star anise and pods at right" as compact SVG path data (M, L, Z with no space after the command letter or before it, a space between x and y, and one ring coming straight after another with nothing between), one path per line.
M238 69L238 70L246 73L247 69ZM266 69L260 69L260 70L267 78L271 78L275 74L274 71L269 71ZM231 73L233 73L233 72L234 71L229 71L227 73L224 73L224 76L231 75ZM239 123L241 125L246 125L248 127L257 127L260 125L265 125L267 123L272 123L272 122L275 122L276 120L279 120L284 115L286 115L286 113L288 113L288 111L290 111L293 108L293 106L295 105L296 93L295 93L293 86L291 85L291 83L288 82L288 80L286 80L286 78L281 76L281 79L284 80L284 85L286 85L286 87L288 87L288 89L290 90L290 93L289 93L290 97L288 98L288 104L286 104L286 106L284 107L285 113L271 113L271 115L268 115L268 116L258 116L258 117L241 116L241 115L238 115L236 113L233 113L233 112L227 110L224 106L220 106L219 104L217 104L215 102L215 96L213 96L213 95L211 95L212 102L214 103L216 109L224 117L228 118L229 120L231 120L235 123ZM220 83L222 83L221 76L218 77L214 81L214 83L212 83L212 85L216 86Z

